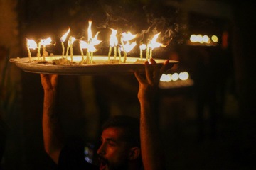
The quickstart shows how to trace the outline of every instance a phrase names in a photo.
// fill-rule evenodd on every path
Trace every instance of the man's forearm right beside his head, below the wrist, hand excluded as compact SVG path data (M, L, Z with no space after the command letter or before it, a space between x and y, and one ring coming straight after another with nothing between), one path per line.
M159 131L154 122L152 102L141 102L140 133L144 169L164 169L164 154L159 140Z

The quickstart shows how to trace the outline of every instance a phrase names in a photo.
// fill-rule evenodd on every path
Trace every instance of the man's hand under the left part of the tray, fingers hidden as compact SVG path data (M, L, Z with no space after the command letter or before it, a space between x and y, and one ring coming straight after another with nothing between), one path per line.
M58 81L57 74L40 74L41 83L45 92L55 91Z

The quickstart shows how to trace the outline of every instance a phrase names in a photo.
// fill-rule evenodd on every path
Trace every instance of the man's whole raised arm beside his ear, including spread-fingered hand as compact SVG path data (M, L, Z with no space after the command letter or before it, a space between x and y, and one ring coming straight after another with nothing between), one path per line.
M135 76L139 81L138 98L141 106L140 137L142 149L142 162L145 170L165 169L164 150L161 148L159 131L154 122L154 97L159 85L159 79L169 60L164 62L161 69L156 62L150 60L153 71L149 69L149 62L145 62L146 79L139 72Z

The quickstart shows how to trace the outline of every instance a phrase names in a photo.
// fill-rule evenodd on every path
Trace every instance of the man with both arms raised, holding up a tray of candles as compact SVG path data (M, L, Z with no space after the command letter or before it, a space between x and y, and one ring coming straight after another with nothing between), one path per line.
M139 81L138 98L141 107L139 120L140 146L134 145L129 142L127 137L124 137L129 131L124 128L123 125L125 123L122 122L123 120L116 121L117 124L115 125L111 125L111 123L110 125L105 125L101 136L102 145L97 151L101 163L100 170L141 169L140 157L142 157L142 164L145 170L164 169L164 154L159 141L159 133L154 123L153 105L159 79L169 60L164 62L161 69L158 68L153 59L150 62L153 70L149 69L149 62L145 62L146 79L139 72L135 72L135 77ZM58 124L58 114L55 111L57 79L57 75L41 74L41 82L45 92L43 103L43 140L45 150L53 161L58 164L59 169L96 169L92 164L82 160L81 152L76 152L73 147L68 147L63 142L63 135ZM136 136L136 134L130 136L133 135Z

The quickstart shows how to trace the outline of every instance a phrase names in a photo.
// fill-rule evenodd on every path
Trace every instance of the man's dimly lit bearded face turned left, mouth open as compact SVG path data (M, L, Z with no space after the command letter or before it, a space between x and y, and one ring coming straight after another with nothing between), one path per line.
M107 128L103 130L102 145L97 151L100 157L100 170L127 169L129 147L122 139L124 129Z

